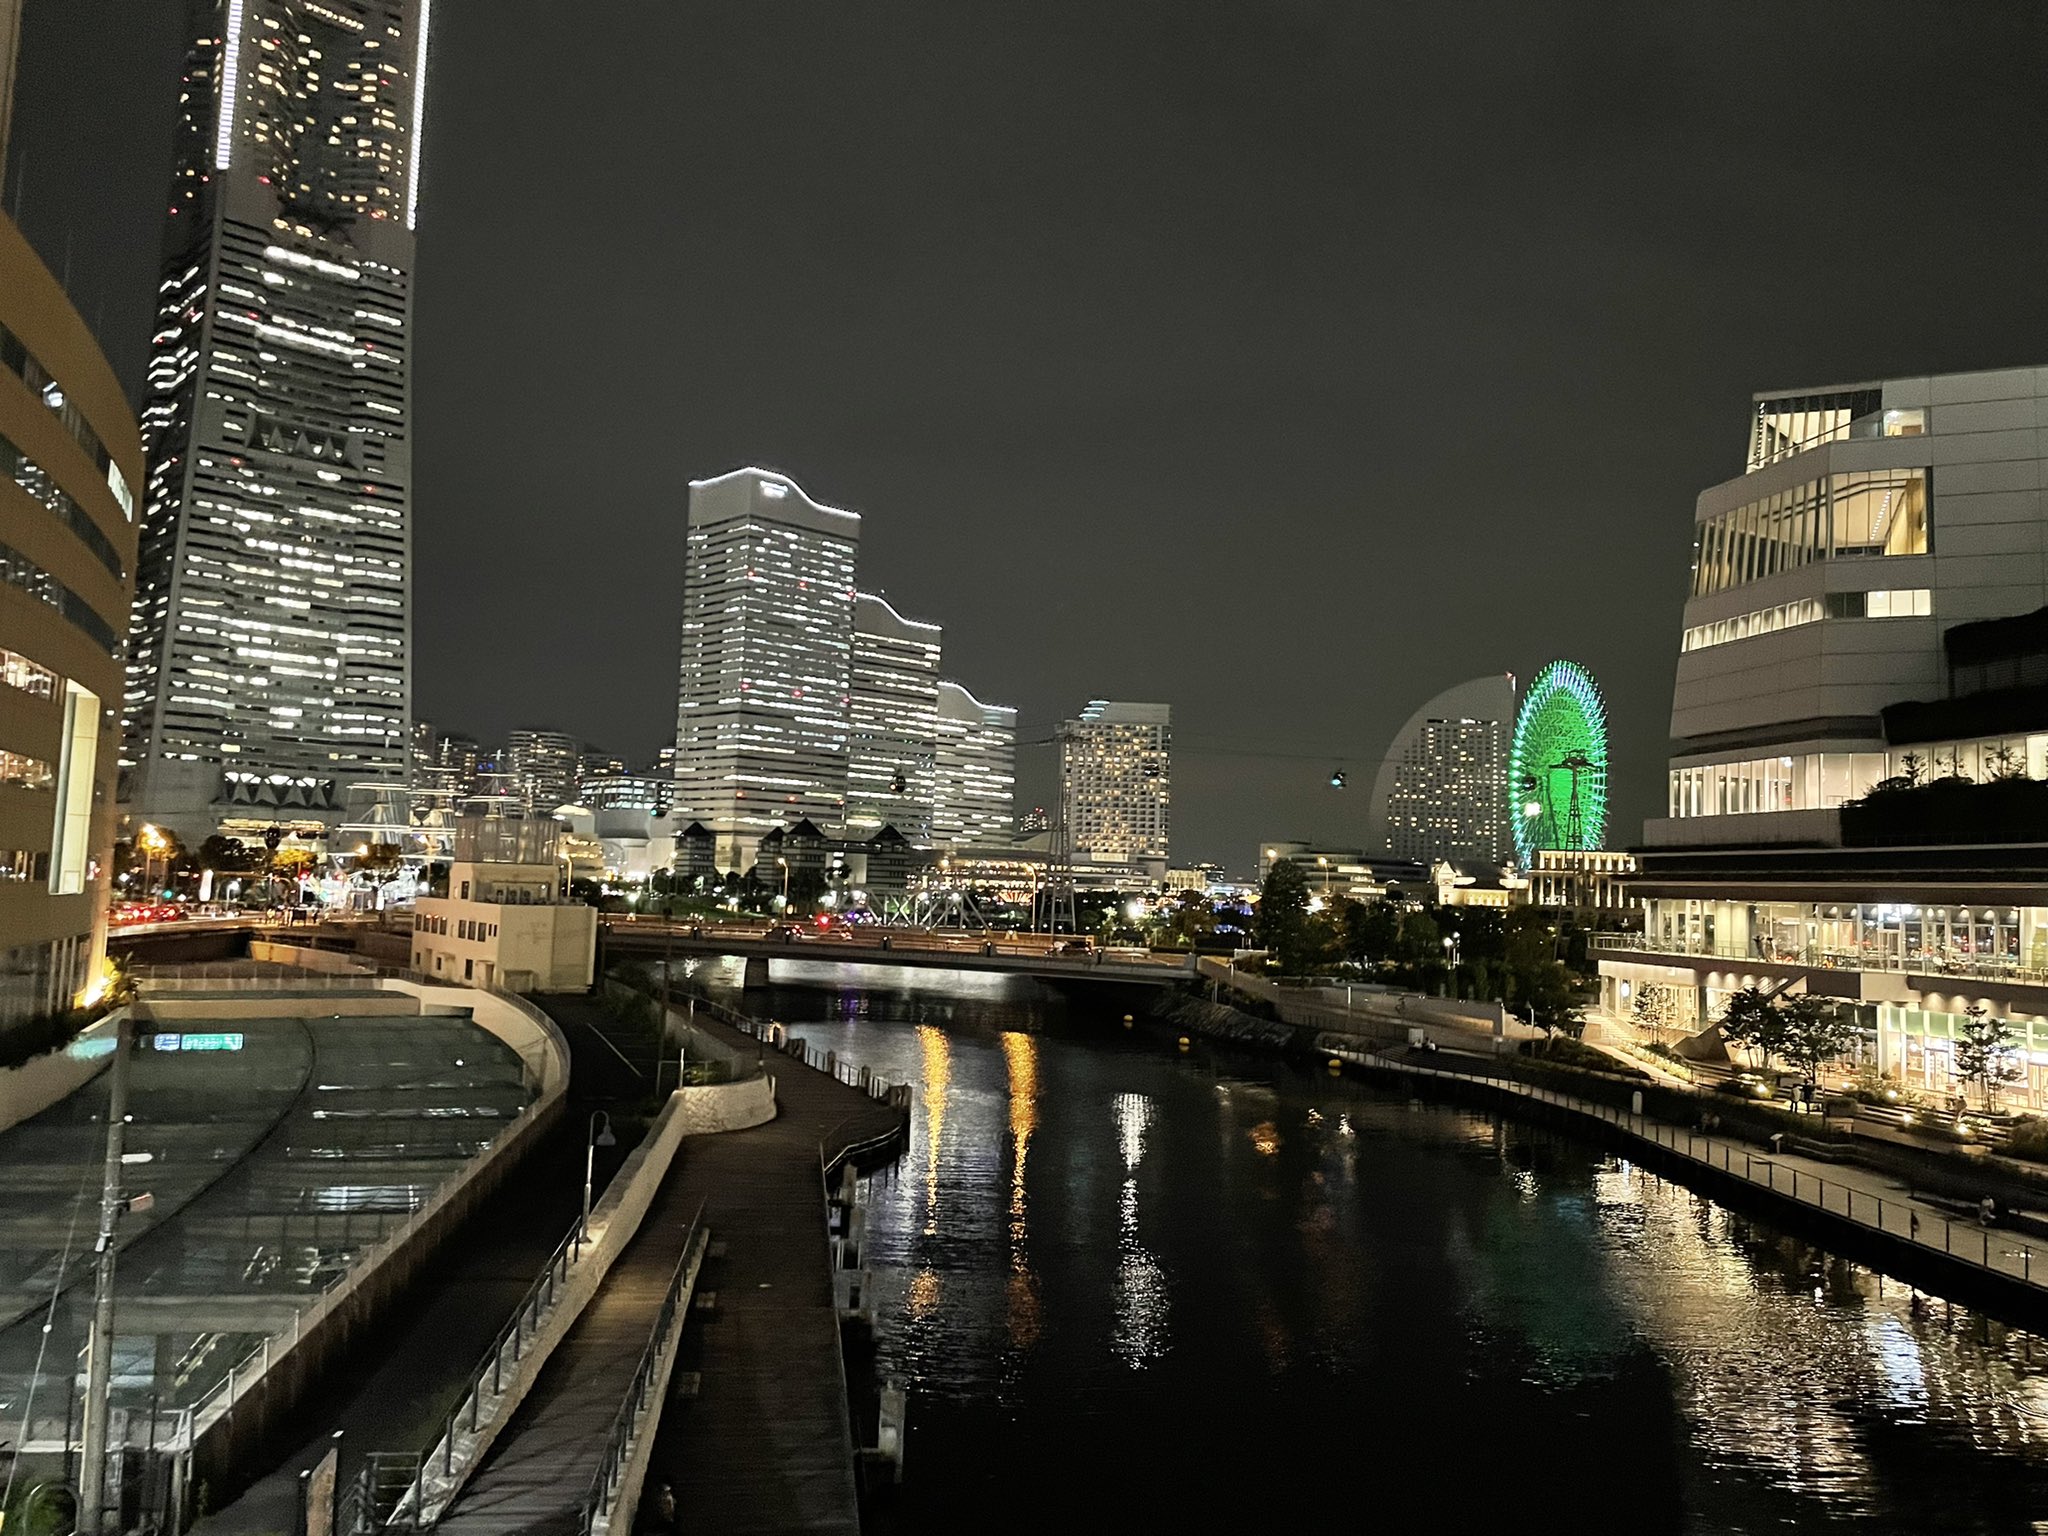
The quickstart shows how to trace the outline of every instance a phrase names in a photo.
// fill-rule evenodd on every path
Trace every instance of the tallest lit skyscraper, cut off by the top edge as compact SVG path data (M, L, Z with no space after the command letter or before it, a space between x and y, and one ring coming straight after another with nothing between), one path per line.
M129 811L403 782L428 0L190 0L143 406Z

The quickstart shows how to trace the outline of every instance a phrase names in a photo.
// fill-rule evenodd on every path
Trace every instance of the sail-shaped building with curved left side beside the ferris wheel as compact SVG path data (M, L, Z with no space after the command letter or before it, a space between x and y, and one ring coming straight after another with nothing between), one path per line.
M1516 680L1505 672L1446 688L1409 715L1372 780L1374 848L1421 864L1505 860L1513 729Z

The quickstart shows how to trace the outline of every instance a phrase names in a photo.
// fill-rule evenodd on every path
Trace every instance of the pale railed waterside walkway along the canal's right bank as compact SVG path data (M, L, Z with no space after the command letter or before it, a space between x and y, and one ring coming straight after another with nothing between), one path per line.
M1522 1098L1583 1114L1653 1147L1661 1147L1673 1157L1681 1157L1724 1178L1741 1180L1759 1192L1792 1200L1870 1233L1911 1243L1929 1257L1946 1257L1972 1270L1982 1270L2017 1282L2036 1294L2048 1292L2048 1247L2030 1243L2011 1231L1987 1229L1980 1223L1958 1219L1952 1214L1952 1208L1917 1198L1905 1184L1876 1169L1853 1163L1825 1163L1817 1157L1800 1157L1798 1153L1761 1153L1729 1137L1710 1137L1653 1120L1647 1114L1630 1114L1628 1110L1616 1110L1608 1104L1595 1104L1593 1100L1559 1094L1509 1077L1442 1071L1346 1047L1333 1047L1331 1055L1356 1061L1362 1067L1397 1071L1409 1077L1481 1083L1509 1100ZM2034 1274L2036 1260L2042 1262L2038 1276Z

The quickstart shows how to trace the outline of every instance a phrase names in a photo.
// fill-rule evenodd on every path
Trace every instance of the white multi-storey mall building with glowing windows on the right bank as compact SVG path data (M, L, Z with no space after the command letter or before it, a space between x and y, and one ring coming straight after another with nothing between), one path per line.
M1982 1004L2048 1108L2044 444L2048 369L1757 397L1694 516L1645 932L1597 940L1614 1018L1841 997L1939 1092Z

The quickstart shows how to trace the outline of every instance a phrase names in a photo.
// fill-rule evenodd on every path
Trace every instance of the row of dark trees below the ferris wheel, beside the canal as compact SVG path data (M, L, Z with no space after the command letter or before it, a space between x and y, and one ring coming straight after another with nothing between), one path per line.
M1260 887L1253 940L1282 975L1339 969L1421 991L1489 997L1542 1028L1577 1034L1591 985L1583 936L1538 907L1409 907L1311 895L1280 860Z

